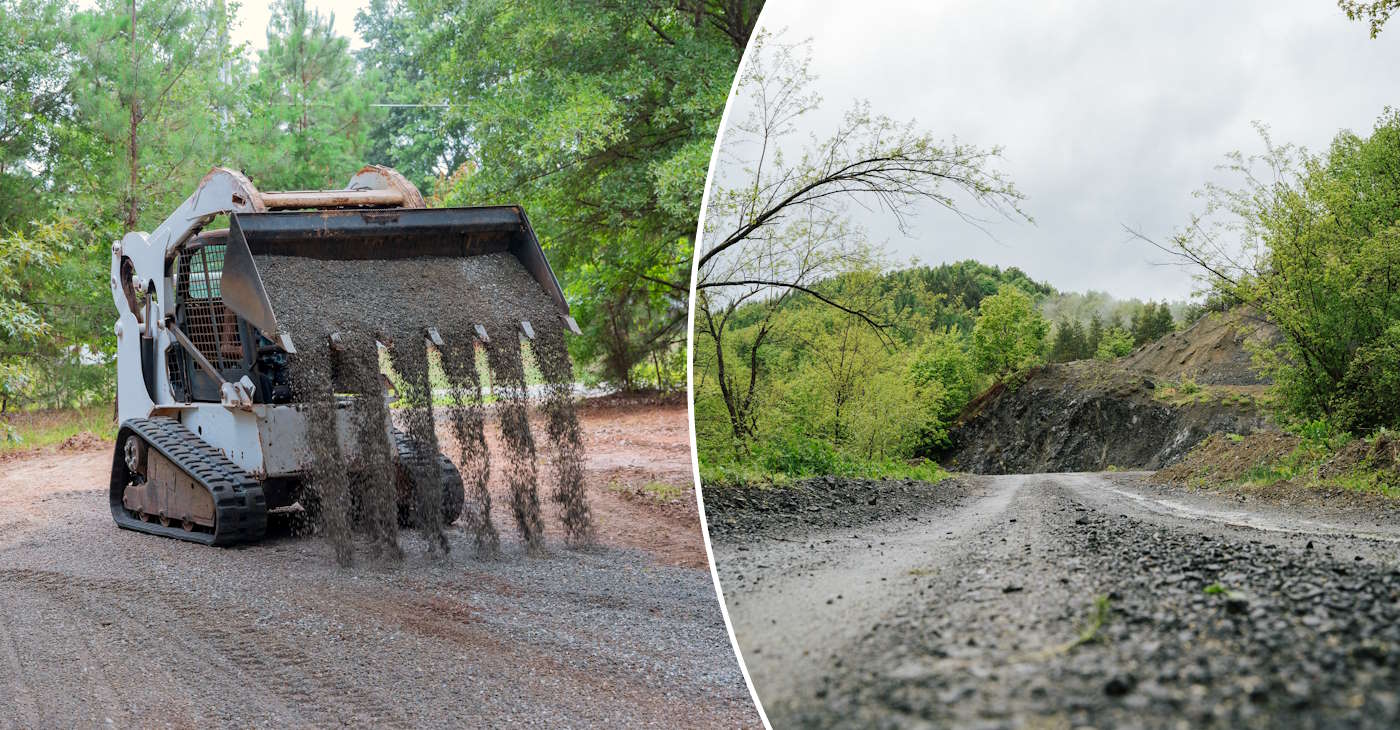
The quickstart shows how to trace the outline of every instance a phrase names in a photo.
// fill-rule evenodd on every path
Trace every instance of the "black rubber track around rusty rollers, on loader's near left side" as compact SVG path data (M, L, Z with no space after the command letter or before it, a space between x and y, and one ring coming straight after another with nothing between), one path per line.
M126 458L122 455L122 444L130 434L144 440L214 496L213 532L188 532L178 525L164 527L154 521L143 523L126 511L122 504L122 493L130 483L132 475L126 468ZM112 457L109 499L116 525L137 532L203 545L256 542L267 532L267 500L263 497L258 479L238 468L203 439L195 436L181 422L165 416L130 419L122 423L122 429L116 434L116 453Z

